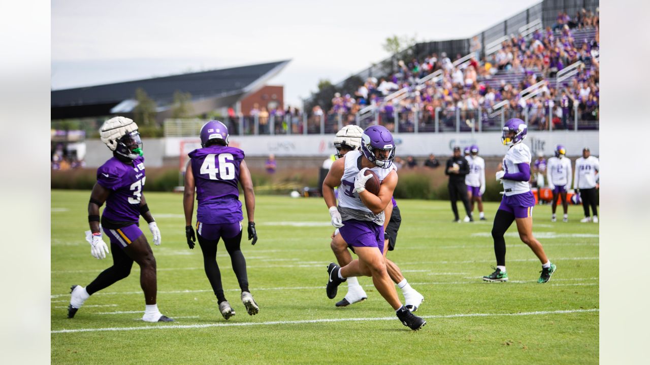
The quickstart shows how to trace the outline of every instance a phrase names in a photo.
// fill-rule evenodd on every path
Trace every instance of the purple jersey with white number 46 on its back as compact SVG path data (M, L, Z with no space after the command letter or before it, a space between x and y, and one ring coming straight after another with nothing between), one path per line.
M190 152L192 174L196 183L201 223L233 223L244 219L239 201L239 166L244 151L235 147L211 145Z

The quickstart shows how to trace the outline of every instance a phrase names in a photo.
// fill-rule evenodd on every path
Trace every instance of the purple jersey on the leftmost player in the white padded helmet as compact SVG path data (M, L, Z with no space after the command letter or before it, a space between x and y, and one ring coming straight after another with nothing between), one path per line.
M144 157L125 164L113 157L97 169L97 183L112 190L106 199L103 218L112 221L140 221L140 196L144 186Z

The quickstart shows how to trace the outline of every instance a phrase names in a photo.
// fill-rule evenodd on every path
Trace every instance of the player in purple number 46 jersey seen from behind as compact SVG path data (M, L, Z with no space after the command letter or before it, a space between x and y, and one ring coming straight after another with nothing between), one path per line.
M219 312L227 320L235 315L235 310L224 296L221 273L216 263L216 246L224 241L230 262L241 289L241 300L250 316L259 311L255 299L248 290L246 258L240 249L242 240L242 203L239 201L241 185L248 216L248 239L257 242L255 230L255 192L250 171L244 161L244 151L228 147L228 129L224 123L211 120L201 127L201 148L188 153L185 173L185 193L183 210L185 212L185 237L190 249L198 236L203 253L203 268L219 306ZM196 236L192 229L194 213L194 190L196 188Z

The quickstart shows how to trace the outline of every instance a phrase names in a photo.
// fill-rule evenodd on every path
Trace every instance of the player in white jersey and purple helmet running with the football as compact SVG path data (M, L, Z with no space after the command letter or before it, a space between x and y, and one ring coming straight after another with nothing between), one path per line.
M343 268L331 262L326 292L328 298L333 299L339 284L346 278L371 276L375 288L393 307L402 324L418 330L426 321L402 305L383 257L383 210L391 203L397 185L393 158L395 142L391 132L381 125L372 125L363 131L361 151L350 151L332 164L323 182L323 197L330 209L332 225L339 229L345 242L354 247L359 258ZM378 195L365 188L366 181L372 177L372 174L365 175L369 169L379 177ZM340 186L338 207L334 195L337 186Z

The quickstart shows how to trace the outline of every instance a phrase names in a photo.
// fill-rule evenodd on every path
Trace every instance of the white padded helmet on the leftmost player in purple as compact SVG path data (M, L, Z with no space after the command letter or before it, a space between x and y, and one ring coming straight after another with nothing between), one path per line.
M99 128L101 142L118 155L131 158L142 156L142 141L135 121L122 116L110 118Z

